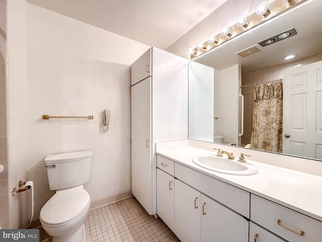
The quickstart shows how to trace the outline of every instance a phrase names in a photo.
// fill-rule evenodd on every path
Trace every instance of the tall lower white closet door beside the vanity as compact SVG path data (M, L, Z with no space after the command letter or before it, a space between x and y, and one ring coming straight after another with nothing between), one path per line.
M151 78L147 78L131 87L132 194L149 214L151 214L150 85Z

